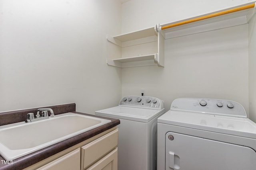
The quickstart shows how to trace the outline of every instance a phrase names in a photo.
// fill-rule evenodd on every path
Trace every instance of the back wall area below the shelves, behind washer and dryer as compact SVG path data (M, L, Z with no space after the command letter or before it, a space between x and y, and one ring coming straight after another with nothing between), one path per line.
M234 36L236 34L236 36ZM122 69L122 96L234 100L248 111L248 31L240 25L165 41L165 67Z

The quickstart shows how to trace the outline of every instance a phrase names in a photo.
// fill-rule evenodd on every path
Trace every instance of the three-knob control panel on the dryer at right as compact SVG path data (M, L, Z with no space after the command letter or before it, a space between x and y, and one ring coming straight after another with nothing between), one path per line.
M171 110L247 117L244 107L234 101L208 98L178 98L172 102Z

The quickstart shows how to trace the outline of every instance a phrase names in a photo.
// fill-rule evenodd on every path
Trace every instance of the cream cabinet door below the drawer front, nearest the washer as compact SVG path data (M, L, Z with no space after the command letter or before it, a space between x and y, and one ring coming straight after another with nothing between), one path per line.
M87 170L117 170L117 148Z

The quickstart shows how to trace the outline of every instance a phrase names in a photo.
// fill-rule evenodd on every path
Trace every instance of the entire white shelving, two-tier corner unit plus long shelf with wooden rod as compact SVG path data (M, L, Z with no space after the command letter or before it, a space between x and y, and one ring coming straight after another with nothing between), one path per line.
M108 42L116 45L109 50L112 54L108 54L107 64L120 68L151 65L164 67L165 39L246 24L256 13L255 2L192 16L186 20L164 25L157 24L155 27L114 37L107 35ZM171 27L164 28L166 26Z

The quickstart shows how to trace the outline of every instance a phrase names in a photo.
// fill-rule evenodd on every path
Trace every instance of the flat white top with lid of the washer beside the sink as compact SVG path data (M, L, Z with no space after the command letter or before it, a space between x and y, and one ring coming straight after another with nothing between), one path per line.
M158 115L160 115L164 109L142 109L135 107L116 106L108 109L95 111L96 115L102 115L106 117L113 117L118 119L126 119L132 121L140 121L148 123Z

